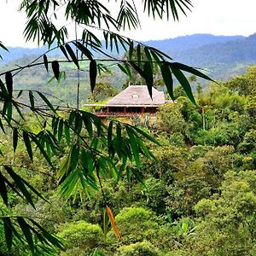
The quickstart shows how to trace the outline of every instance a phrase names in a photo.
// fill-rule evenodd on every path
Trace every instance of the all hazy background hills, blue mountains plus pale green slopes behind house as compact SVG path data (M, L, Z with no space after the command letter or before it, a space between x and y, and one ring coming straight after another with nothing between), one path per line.
M144 42L155 48L161 49L167 54L171 55L175 61L180 61L194 67L203 67L206 73L215 80L227 80L235 75L245 73L247 67L256 63L256 52L254 45L256 44L256 37L252 35L248 38L241 36L212 36L209 34L195 34L186 37L178 37L160 41L148 41ZM17 65L25 65L29 61L32 61L36 56L42 55L46 48L39 49L23 49L23 48L10 48L9 53L0 50L0 54L3 55L3 60L0 61L0 70L5 71L10 67L17 67ZM61 50L55 49L49 52L49 56L52 60L60 57ZM114 55L118 55L117 52ZM125 55L124 50L119 51L119 56ZM96 57L100 55L96 55ZM7 64L8 63L8 64ZM65 84L75 84L75 65L61 65L62 71L66 71L67 81ZM105 77L100 81L109 82L113 84L118 90L121 90L124 74L119 72L118 68L111 67L113 74ZM65 89L57 86L55 82L47 84L50 75L44 76L42 73L44 68L33 68L25 73L21 73L21 79L16 83L17 88L24 88L26 83L30 88L44 88L53 93L61 100L73 103L74 97L71 89L72 85L68 85ZM53 75L53 74L52 74ZM82 80L88 81L88 68L84 66L84 72L81 73ZM33 77L33 78L32 78ZM34 77L38 79L35 80ZM40 79L39 79L40 78ZM201 80L203 87L207 84ZM90 94L89 84L83 84L81 86L82 102L87 102L87 97ZM69 90L67 95L67 90Z

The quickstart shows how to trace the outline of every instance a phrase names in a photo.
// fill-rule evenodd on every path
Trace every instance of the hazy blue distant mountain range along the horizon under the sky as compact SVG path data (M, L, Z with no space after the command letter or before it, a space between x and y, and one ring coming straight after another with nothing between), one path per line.
M213 79L229 79L230 76L244 73L248 66L256 64L256 34L247 38L194 34L143 43L166 52L175 61L207 68ZM20 59L24 55L41 55L46 50L46 47L9 48L9 53L0 50L0 54L3 55L0 65ZM55 51L51 55L59 53Z

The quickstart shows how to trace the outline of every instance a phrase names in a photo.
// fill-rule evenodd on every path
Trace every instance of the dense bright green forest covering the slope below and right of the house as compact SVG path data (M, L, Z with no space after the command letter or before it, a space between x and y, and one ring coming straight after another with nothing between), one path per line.
M255 255L255 83L256 67L250 67L206 90L197 84L197 106L177 85L176 101L161 107L154 122L134 119L160 142L148 142L156 159L144 157L140 167L130 166L119 183L106 174L102 189L68 199L42 155L34 154L32 164L25 146L19 143L14 154L11 134L1 133L0 161L20 166L17 173L47 199L35 195L35 210L14 193L13 214L33 217L63 238L60 255ZM38 120L31 117L24 125L36 132ZM65 148L66 141L61 143ZM63 158L52 161L60 166ZM103 215L106 205L120 241ZM26 255L18 240L9 252L3 233L2 255Z

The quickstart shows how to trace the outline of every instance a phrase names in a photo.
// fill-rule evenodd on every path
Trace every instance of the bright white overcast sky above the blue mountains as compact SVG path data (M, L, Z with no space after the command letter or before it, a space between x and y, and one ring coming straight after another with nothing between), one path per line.
M0 0L0 41L12 47L36 47L37 44L24 40L26 15L17 11L19 3L20 0ZM248 36L256 32L256 0L192 0L192 3L192 12L187 17L180 15L179 22L153 20L141 15L142 29L123 34L147 41L194 33ZM72 31L73 28L71 34Z

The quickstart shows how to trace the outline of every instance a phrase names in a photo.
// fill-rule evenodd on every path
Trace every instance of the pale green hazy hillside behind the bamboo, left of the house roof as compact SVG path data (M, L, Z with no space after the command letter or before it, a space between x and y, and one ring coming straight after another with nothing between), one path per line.
M15 62L8 65L0 66L0 73L9 69L25 66L32 62L37 55L26 55ZM50 61L54 61L55 57L49 57ZM97 83L111 84L117 91L121 90L125 80L125 74L120 72L117 67L109 67L109 73L102 73L97 78ZM89 64L81 63L80 70L80 104L91 102L90 100L90 79ZM40 90L47 93L49 100L55 104L70 105L76 104L76 86L78 84L77 70L73 63L61 63L61 77L56 81L54 73L45 73L44 66L32 67L25 69L19 74L19 78L15 79L15 90ZM108 92L106 92L108 95ZM111 95L111 94L110 94ZM109 95L109 96L110 96ZM24 97L27 102L28 98Z

